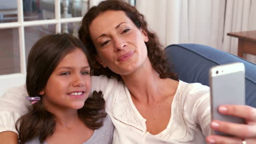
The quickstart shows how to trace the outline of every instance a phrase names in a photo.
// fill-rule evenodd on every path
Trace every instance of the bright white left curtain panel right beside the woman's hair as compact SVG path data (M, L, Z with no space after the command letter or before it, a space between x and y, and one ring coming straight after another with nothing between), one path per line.
M163 46L179 42L179 0L136 0L136 8Z

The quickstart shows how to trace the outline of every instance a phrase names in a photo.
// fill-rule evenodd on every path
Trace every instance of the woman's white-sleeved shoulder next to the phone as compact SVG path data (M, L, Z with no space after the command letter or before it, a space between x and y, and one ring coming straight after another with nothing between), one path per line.
M191 129L197 129L200 124L203 131L208 131L205 125L211 121L210 87L201 83L187 83L180 81L180 94L177 99L184 118Z

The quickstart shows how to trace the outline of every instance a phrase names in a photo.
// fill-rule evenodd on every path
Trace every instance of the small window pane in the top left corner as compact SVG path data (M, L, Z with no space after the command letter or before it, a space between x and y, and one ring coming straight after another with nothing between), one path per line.
M0 23L18 21L17 0L1 0L0 2Z

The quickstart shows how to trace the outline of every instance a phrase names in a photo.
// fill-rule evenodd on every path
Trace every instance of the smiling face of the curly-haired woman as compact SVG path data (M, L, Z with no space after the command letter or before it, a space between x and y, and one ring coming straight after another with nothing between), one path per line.
M91 22L89 29L97 60L103 67L128 75L148 59L147 33L137 28L124 11L105 11Z

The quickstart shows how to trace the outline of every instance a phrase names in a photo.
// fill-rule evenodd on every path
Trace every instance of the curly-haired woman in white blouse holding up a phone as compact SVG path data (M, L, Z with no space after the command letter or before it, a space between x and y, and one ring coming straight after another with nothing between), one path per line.
M156 35L135 8L123 2L101 2L84 16L79 38L95 60L94 75L102 75L93 77L92 88L103 91L106 111L115 125L113 143L205 142L211 131L209 88L178 81L167 67ZM220 107L220 112L251 123L214 121L212 129L236 137L208 136L207 142L253 141L256 119L248 114L255 111L248 106Z

